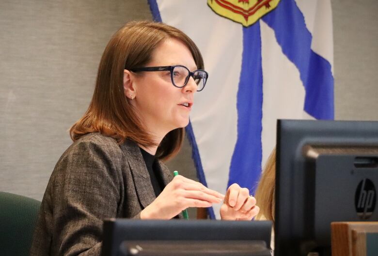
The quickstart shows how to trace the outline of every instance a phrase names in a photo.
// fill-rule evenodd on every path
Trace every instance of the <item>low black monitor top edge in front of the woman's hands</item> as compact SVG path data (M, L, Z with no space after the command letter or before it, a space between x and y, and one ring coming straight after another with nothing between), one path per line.
M271 222L104 221L102 256L270 256Z

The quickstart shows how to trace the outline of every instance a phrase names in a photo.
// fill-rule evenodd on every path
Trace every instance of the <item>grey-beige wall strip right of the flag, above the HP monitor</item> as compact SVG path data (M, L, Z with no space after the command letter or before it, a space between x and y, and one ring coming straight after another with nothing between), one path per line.
M378 120L378 1L331 3L335 119Z

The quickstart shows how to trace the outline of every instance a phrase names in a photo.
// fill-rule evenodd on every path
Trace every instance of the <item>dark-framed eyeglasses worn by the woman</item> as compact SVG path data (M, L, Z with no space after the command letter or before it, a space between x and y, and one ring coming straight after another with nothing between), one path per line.
M172 84L178 88L186 86L191 76L197 84L197 91L204 90L207 77L209 76L209 74L205 70L197 69L193 72L190 72L187 67L182 65L134 68L130 69L130 71L170 71Z

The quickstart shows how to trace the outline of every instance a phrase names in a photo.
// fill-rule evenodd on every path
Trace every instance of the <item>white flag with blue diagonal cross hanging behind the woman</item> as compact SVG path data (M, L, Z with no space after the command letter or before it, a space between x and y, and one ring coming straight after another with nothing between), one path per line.
M149 4L156 21L184 31L204 57L209 79L195 94L186 131L198 177L210 189L225 193L236 182L254 192L277 119L333 119L330 0ZM209 210L211 218L219 218L219 207Z

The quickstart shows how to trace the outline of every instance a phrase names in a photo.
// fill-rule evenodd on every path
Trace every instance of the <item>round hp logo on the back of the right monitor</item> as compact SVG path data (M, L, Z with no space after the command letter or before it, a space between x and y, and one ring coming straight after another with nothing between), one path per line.
M377 193L373 181L363 179L357 186L354 196L357 215L362 220L369 218L376 207Z

